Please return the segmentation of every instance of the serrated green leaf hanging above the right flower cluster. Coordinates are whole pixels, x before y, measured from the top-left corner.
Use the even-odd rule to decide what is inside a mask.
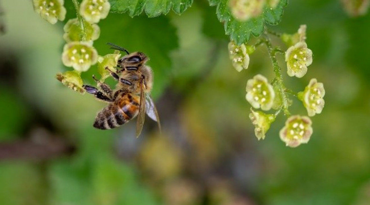
[[[287,0],[280,0],[274,9],[266,6],[262,15],[247,21],[238,21],[232,16],[228,0],[209,0],[209,5],[217,6],[216,14],[218,20],[224,24],[225,33],[230,35],[232,41],[240,45],[248,42],[251,35],[255,37],[261,35],[265,24],[278,24],[287,5]]]

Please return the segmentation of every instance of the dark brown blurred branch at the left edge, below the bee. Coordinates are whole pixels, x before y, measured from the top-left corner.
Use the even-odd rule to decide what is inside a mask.
[[[74,146],[66,139],[52,135],[46,129],[37,128],[30,138],[0,143],[0,160],[50,160],[73,153]]]

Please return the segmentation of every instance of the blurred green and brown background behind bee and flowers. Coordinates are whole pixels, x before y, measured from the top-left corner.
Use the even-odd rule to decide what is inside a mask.
[[[163,126],[147,119],[140,138],[135,121],[119,129],[92,127],[105,106],[55,79],[64,72],[63,25],[51,25],[31,1],[1,1],[1,205],[331,205],[370,204],[370,14],[350,18],[339,0],[289,1],[282,22],[294,33],[307,24],[313,63],[302,79],[324,83],[325,108],[312,118],[313,135],[292,149],[279,139],[285,117],[258,141],[245,100],[246,81],[272,79],[266,48],[238,73],[216,8],[196,1],[182,15],[130,18],[110,14],[94,42],[142,51],[154,69],[153,97]],[[279,44],[278,41],[275,44]],[[285,47],[284,47],[285,49]],[[84,73],[92,84],[96,66]],[[108,81],[114,83],[113,81]],[[295,114],[306,110],[296,99]]]

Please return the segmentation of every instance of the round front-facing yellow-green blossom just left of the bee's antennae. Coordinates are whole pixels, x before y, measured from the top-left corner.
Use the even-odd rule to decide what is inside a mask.
[[[64,45],[62,61],[67,67],[84,72],[97,62],[98,53],[91,42],[70,42]]]

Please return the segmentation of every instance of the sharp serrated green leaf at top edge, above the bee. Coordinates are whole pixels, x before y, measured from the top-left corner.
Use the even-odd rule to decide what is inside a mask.
[[[156,17],[168,14],[171,8],[176,14],[181,14],[191,6],[193,0],[110,0],[110,3],[112,12],[128,12],[134,17],[145,10],[148,17]]]

